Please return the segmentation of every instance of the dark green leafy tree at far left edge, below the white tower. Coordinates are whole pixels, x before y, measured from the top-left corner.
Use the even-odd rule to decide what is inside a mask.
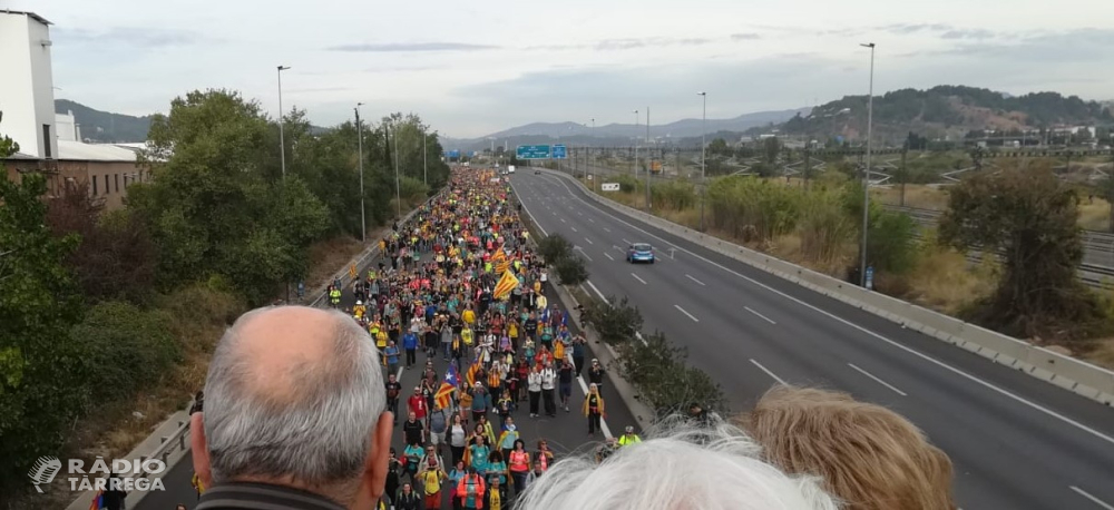
[[[10,155],[14,144],[0,138],[0,150]],[[85,373],[68,340],[81,301],[63,264],[78,239],[50,232],[46,192],[40,174],[0,178],[0,493],[57,450],[84,403]]]

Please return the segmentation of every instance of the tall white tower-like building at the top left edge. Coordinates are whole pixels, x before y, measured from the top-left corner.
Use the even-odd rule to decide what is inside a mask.
[[[21,154],[55,159],[53,73],[50,21],[32,12],[0,10],[0,133],[19,144]]]

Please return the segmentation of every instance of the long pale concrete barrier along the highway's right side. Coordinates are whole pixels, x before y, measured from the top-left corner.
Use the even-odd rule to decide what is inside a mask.
[[[820,294],[842,301],[858,308],[885,317],[911,330],[948,342],[969,352],[1028,373],[1087,399],[1106,405],[1114,404],[1114,372],[1085,361],[1065,356],[1027,342],[966,323],[895,297],[867,291],[858,285],[817,273],[761,252],[756,252],[719,237],[703,234],[652,214],[627,207],[602,197],[579,180],[565,174],[544,170],[578,186],[592,200],[615,212],[683,239],[698,244],[715,253],[789,279]]]

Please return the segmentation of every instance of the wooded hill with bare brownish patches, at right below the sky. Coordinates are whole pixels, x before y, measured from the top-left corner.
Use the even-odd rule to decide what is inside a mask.
[[[867,96],[846,96],[817,107],[809,116],[789,119],[780,129],[817,139],[837,136],[862,139],[867,131]],[[978,129],[1039,130],[1111,122],[1114,117],[1108,106],[1057,92],[1010,96],[974,87],[938,86],[874,97],[874,135],[888,144],[900,144],[909,131],[929,139],[958,139]]]

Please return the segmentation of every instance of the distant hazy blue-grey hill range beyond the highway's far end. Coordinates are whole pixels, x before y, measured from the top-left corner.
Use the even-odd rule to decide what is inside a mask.
[[[715,131],[737,131],[742,133],[756,126],[784,122],[793,118],[794,115],[808,115],[811,108],[799,108],[793,110],[759,111],[744,114],[730,119],[707,119],[707,133]],[[700,138],[703,130],[702,119],[682,119],[668,124],[652,124],[649,136],[652,138],[668,139],[673,143],[682,138]],[[561,141],[575,145],[593,146],[628,146],[631,138],[646,137],[646,125],[636,126],[634,124],[608,124],[596,126],[594,129],[577,122],[531,122],[524,126],[492,133],[480,138],[446,139],[446,148],[459,148],[462,150],[482,150],[491,148],[491,140],[495,145],[501,146],[505,143],[510,147],[529,144],[551,144],[558,138]],[[696,143],[698,145],[698,141]]]

